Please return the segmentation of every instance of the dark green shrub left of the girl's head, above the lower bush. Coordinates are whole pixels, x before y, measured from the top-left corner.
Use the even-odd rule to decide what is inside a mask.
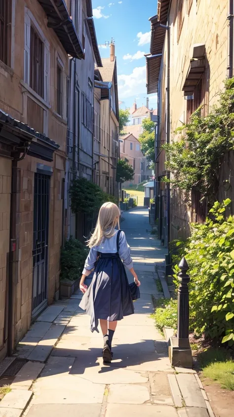
[[[76,178],[69,192],[73,213],[97,213],[101,205],[107,201],[117,204],[113,195],[104,192],[98,185],[86,178]]]

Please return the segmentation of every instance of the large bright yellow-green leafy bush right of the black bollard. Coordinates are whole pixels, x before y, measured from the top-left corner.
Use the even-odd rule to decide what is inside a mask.
[[[190,266],[190,325],[198,334],[234,344],[234,216],[216,202],[204,224],[191,225],[191,237],[179,254]],[[180,247],[177,242],[178,248]],[[178,265],[174,268],[178,285]]]

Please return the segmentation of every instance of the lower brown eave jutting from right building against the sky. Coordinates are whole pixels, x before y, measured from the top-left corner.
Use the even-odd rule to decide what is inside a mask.
[[[162,54],[146,56],[147,94],[157,93]]]

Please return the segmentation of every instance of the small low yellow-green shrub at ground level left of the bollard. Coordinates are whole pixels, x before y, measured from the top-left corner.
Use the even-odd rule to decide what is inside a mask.
[[[161,298],[157,300],[154,313],[156,326],[160,331],[163,327],[177,328],[177,300]]]

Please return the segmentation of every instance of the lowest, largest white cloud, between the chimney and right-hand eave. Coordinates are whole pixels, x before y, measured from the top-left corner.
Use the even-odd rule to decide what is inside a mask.
[[[129,75],[118,76],[118,94],[120,100],[136,94],[146,93],[146,66],[136,67]]]

